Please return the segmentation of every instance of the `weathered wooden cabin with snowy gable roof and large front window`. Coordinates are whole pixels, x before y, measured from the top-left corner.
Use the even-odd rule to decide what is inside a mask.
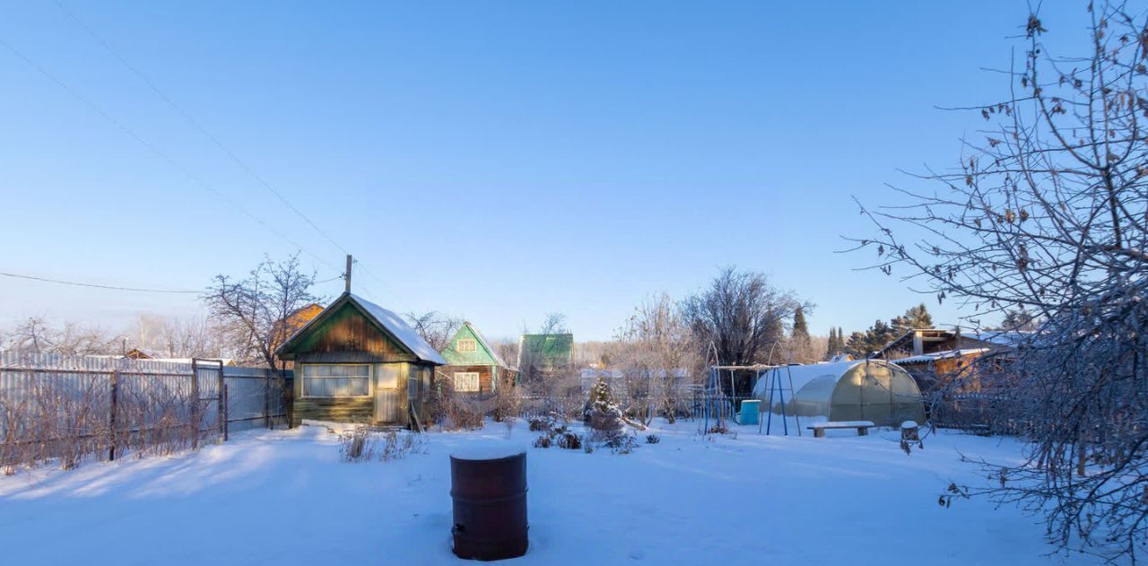
[[[304,419],[401,425],[429,420],[447,363],[398,315],[343,293],[277,350],[295,364],[292,426]]]

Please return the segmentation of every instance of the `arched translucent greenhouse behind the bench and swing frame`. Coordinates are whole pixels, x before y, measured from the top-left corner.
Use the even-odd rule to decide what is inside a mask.
[[[761,400],[763,410],[775,414],[782,413],[783,395],[785,414],[791,417],[871,420],[878,426],[899,426],[906,420],[924,422],[925,419],[916,381],[905,370],[883,359],[775,367],[762,373],[753,388],[753,396]]]

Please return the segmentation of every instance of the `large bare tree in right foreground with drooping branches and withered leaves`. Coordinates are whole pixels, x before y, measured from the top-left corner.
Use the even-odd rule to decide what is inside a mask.
[[[974,321],[1017,309],[1039,320],[1004,371],[970,373],[998,400],[994,425],[1030,442],[978,493],[1044,513],[1058,548],[1135,561],[1148,535],[1148,17],[1124,2],[1087,14],[1088,51],[1070,57],[1027,17],[1010,94],[972,108],[988,126],[959,168],[863,209],[877,230],[858,245]]]

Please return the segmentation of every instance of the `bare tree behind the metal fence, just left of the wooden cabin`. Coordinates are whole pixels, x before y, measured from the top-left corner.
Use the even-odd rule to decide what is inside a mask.
[[[216,276],[203,302],[226,329],[240,359],[276,369],[274,350],[293,332],[290,317],[317,300],[312,285],[315,273],[301,270],[298,254],[280,262],[267,257],[246,279]],[[279,363],[278,370],[284,365]]]

